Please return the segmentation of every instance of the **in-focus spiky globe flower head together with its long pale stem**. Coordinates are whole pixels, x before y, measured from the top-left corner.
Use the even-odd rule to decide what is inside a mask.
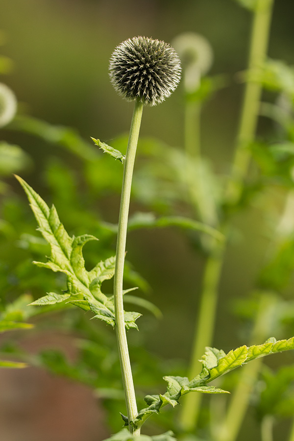
[[[123,266],[132,174],[144,104],[153,106],[168,98],[180,81],[180,61],[174,49],[163,41],[134,37],[119,45],[110,59],[110,79],[123,98],[135,101],[124,159],[123,188],[119,216],[114,304],[123,388],[129,421],[137,416],[137,405],[128,354],[123,316]],[[134,434],[140,429],[133,428]]]

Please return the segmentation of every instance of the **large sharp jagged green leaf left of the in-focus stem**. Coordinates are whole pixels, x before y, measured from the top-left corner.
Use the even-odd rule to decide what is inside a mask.
[[[34,263],[54,272],[63,272],[67,276],[65,294],[49,293],[33,304],[50,305],[66,300],[85,311],[91,310],[95,314],[95,319],[104,320],[115,326],[113,296],[107,297],[100,289],[103,280],[110,279],[114,275],[115,257],[99,262],[93,270],[87,271],[82,248],[88,241],[97,239],[88,234],[70,237],[60,222],[55,207],[49,209],[44,200],[22,178],[17,176],[17,179],[29,199],[39,223],[39,230],[51,247],[48,262]],[[136,312],[125,312],[126,329],[138,329],[135,320],[140,316],[141,314]]]

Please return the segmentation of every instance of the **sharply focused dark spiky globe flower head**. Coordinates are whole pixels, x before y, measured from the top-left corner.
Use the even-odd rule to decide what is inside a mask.
[[[134,37],[121,43],[109,64],[115,90],[128,101],[154,106],[168,98],[181,78],[180,59],[164,41]]]

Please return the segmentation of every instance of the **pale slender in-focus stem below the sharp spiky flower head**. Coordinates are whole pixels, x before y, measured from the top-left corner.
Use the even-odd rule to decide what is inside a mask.
[[[116,334],[119,348],[119,357],[123,378],[123,390],[125,395],[125,403],[127,409],[127,417],[129,421],[136,418],[137,403],[134,382],[131,371],[131,364],[128,352],[128,345],[125,332],[124,314],[123,314],[123,267],[124,267],[124,255],[126,244],[126,231],[128,212],[131,195],[132,176],[134,170],[134,162],[136,156],[136,149],[139,138],[140,124],[142,118],[143,103],[136,101],[127,151],[124,160],[123,168],[123,188],[121,196],[120,216],[119,216],[119,229],[116,249],[116,263],[115,263],[115,275],[114,275],[114,306],[115,306],[115,319],[116,319]],[[134,429],[129,425],[129,430],[134,435],[140,435],[140,429]]]

